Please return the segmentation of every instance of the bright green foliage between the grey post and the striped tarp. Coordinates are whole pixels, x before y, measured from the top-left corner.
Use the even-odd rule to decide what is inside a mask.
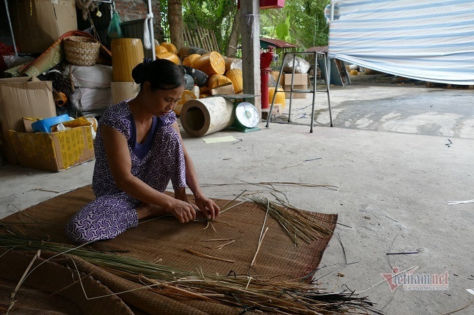
[[[304,49],[326,46],[329,29],[323,10],[329,3],[329,0],[286,0],[282,9],[261,10],[261,35],[293,42]]]

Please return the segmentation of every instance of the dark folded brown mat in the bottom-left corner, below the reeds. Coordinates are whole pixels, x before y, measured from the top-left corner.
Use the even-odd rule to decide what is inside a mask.
[[[34,253],[0,248],[0,255],[0,314],[3,314],[2,310],[8,309],[10,295],[31,263]],[[42,252],[34,261],[29,270],[36,270],[20,286],[9,314],[133,314],[130,307],[121,298],[112,295],[113,292],[107,286],[90,274],[86,277],[83,273],[82,285],[89,296],[105,296],[87,300],[82,286],[76,282],[77,273],[72,272],[75,266],[71,259],[45,261],[47,256],[47,253]]]

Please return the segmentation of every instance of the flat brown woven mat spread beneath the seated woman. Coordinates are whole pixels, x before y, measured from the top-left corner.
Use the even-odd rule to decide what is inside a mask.
[[[47,235],[52,241],[70,243],[63,231],[64,225],[73,213],[93,199],[91,186],[85,186],[0,221],[15,223],[17,229],[32,237],[36,234],[44,239]],[[229,200],[215,200],[215,202],[222,209]],[[331,230],[335,229],[336,214],[307,211],[305,213],[313,218],[319,218],[321,225]],[[260,277],[290,280],[305,277],[316,270],[331,236],[323,235],[312,243],[300,241],[296,247],[284,229],[272,218],[266,221],[268,232],[263,239],[254,267],[251,270],[248,268],[257,250],[264,217],[265,212],[257,205],[245,202],[222,213],[217,222],[213,223],[213,227],[209,225],[206,228],[205,223],[183,225],[172,217],[156,218],[139,223],[138,227],[129,229],[116,239],[96,242],[93,246],[99,250],[117,251],[117,255],[158,261],[158,264],[183,270],[196,271],[197,268],[199,270],[202,268],[204,274],[233,275],[250,272]],[[28,226],[28,229],[24,229],[25,226]],[[204,241],[206,239],[236,239],[236,241],[225,245],[222,249],[216,249],[218,245],[227,241]],[[187,252],[186,248],[235,262],[197,257]]]

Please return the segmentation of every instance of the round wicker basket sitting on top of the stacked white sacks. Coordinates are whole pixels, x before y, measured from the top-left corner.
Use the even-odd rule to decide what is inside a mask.
[[[69,36],[63,39],[66,60],[72,65],[95,65],[100,43],[93,38]]]

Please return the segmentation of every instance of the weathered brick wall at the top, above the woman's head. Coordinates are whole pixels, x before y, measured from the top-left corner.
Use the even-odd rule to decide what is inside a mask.
[[[145,0],[116,0],[115,8],[119,13],[122,22],[132,21],[134,19],[144,19],[148,13],[148,2]],[[151,8],[153,10],[153,31],[155,39],[162,42],[160,1],[151,0]]]

